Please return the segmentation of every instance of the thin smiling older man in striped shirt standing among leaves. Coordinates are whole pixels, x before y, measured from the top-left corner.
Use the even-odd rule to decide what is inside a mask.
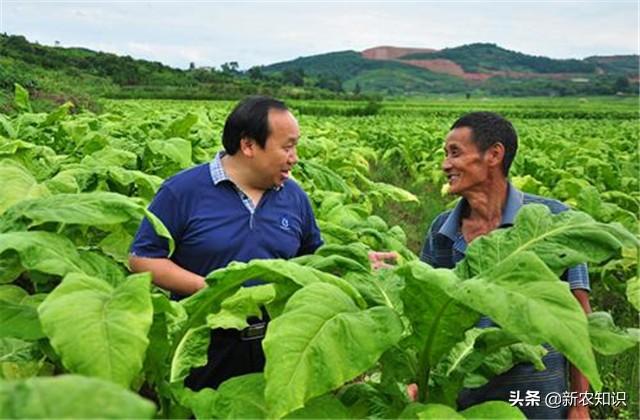
[[[490,112],[467,114],[451,127],[445,142],[442,163],[449,180],[451,194],[462,199],[452,211],[440,214],[431,224],[421,259],[433,267],[453,268],[464,258],[467,244],[494,229],[512,226],[520,208],[529,203],[546,205],[552,213],[567,210],[559,201],[524,194],[507,180],[509,168],[517,151],[517,134],[509,121]],[[569,286],[585,312],[590,312],[589,277],[585,264],[568,269],[563,280]],[[483,317],[479,327],[493,325]],[[567,361],[559,352],[547,346],[544,371],[531,364],[519,364],[476,389],[467,389],[458,398],[460,410],[489,400],[508,400],[512,392],[526,395],[538,391],[568,391]],[[571,391],[586,392],[588,383],[575,367],[570,368]],[[529,418],[589,418],[588,407],[551,408],[520,407]]]

